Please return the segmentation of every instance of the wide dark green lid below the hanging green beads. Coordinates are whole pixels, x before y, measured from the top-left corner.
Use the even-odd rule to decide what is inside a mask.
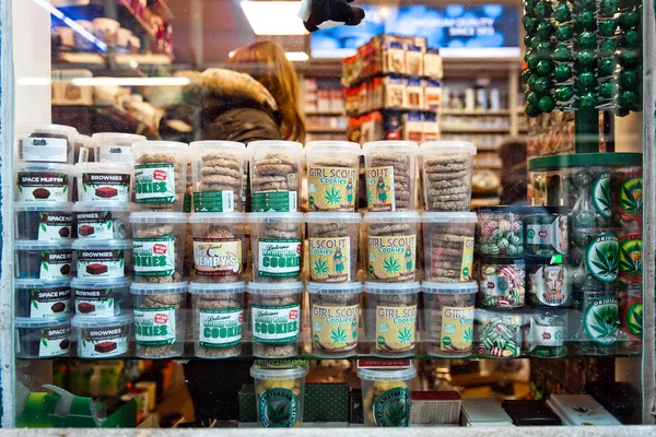
[[[570,167],[626,167],[642,166],[642,153],[575,153],[532,158],[529,172],[560,170]]]

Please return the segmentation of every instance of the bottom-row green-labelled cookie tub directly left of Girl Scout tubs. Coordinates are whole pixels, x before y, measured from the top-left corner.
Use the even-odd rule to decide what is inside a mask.
[[[298,354],[303,283],[262,284],[249,282],[253,355],[288,358]]]

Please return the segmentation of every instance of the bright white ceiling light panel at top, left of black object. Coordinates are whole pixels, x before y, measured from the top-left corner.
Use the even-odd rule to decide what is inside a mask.
[[[242,1],[250,27],[256,35],[307,35],[298,17],[300,1]]]

